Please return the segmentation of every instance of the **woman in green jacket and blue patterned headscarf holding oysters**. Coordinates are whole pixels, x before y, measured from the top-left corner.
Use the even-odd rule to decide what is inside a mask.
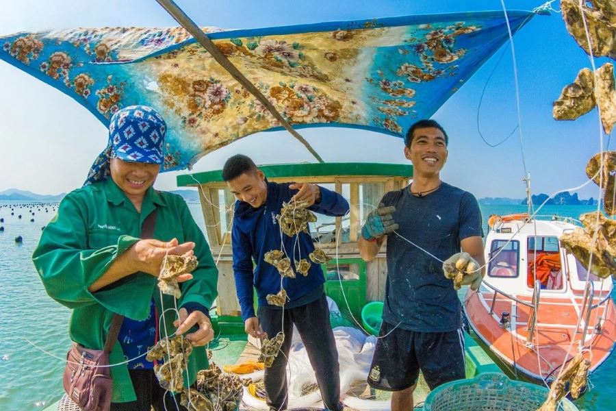
[[[152,108],[133,105],[116,112],[109,145],[86,184],[64,197],[33,256],[49,296],[73,310],[71,340],[103,349],[113,314],[125,316],[110,363],[129,362],[111,367],[112,411],[185,410],[179,399],[165,395],[143,354],[159,338],[188,332],[194,349],[183,377],[189,386],[196,371],[207,368],[203,346],[214,336],[209,308],[218,271],[209,246],[185,201],[152,187],[163,162],[165,131]],[[140,239],[153,210],[155,240]],[[176,307],[173,297],[156,286],[166,253],[194,253],[198,260],[192,275],[178,278],[179,312],[169,310]]]

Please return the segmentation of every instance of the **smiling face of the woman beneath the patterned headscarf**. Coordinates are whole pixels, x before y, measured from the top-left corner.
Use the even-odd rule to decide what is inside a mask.
[[[136,201],[141,204],[145,192],[156,180],[160,165],[126,162],[119,158],[112,158],[110,161],[111,176],[116,185],[133,204],[136,204]]]

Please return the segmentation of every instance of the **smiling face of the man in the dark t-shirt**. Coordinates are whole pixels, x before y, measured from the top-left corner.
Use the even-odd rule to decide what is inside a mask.
[[[436,127],[415,129],[405,157],[413,163],[415,177],[438,177],[447,160],[445,135]]]

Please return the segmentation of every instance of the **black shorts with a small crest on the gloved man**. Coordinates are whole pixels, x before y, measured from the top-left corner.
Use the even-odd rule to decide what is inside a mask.
[[[394,328],[395,325],[383,321],[378,333],[368,373],[368,384],[372,388],[405,390],[417,383],[420,370],[431,390],[466,377],[462,329],[415,332]]]

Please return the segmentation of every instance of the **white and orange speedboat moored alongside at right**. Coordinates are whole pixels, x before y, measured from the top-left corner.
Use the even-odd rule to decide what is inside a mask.
[[[578,352],[597,369],[616,340],[612,277],[587,273],[560,247],[576,226],[493,216],[485,244],[487,273],[478,292],[468,290],[463,308],[483,342],[517,373],[549,381]]]

